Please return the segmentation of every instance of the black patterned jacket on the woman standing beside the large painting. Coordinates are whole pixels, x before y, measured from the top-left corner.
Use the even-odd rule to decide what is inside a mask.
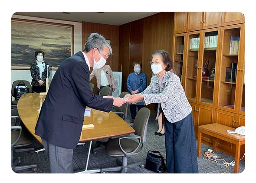
[[[48,65],[48,64],[46,64],[46,62],[44,62],[44,61],[43,61],[43,63],[45,63],[45,69],[42,72],[42,78],[39,77],[39,67],[36,66],[37,65],[36,61],[32,62],[30,65],[30,74],[32,77],[31,85],[33,85],[33,86],[39,86],[39,83],[38,83],[39,80],[43,81],[42,86],[46,86],[46,77],[47,77],[46,70],[48,70],[48,78],[50,77],[49,67],[48,67],[48,69],[46,69],[46,65]]]

